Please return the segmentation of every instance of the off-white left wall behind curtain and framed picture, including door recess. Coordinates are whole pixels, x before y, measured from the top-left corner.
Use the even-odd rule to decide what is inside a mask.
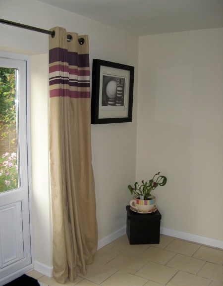
[[[55,26],[89,35],[92,59],[135,66],[133,122],[92,126],[100,245],[124,231],[127,185],[136,171],[138,37],[35,0],[1,0],[0,18],[42,29]],[[0,50],[31,54],[31,121],[35,260],[52,267],[48,162],[48,35],[0,24]],[[37,64],[37,65],[36,65]],[[43,132],[41,132],[43,129]]]

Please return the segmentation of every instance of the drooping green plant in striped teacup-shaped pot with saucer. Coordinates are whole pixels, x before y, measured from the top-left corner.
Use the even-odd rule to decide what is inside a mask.
[[[157,178],[155,179],[155,177]],[[135,183],[134,187],[128,185],[128,189],[131,194],[134,193],[134,199],[129,201],[130,207],[142,213],[151,212],[155,207],[156,197],[151,194],[152,190],[155,190],[158,186],[165,186],[167,183],[167,178],[165,176],[161,176],[160,172],[155,174],[153,179],[144,183],[142,181],[142,185],[139,185],[138,182]]]

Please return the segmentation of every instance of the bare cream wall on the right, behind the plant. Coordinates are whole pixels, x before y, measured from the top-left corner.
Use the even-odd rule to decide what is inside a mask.
[[[161,225],[223,245],[223,29],[139,38],[137,180]]]

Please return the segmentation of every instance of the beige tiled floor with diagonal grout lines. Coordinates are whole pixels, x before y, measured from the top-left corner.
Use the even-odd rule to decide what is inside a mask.
[[[41,286],[61,286],[35,270]],[[130,245],[127,235],[99,249],[87,275],[66,286],[223,286],[223,249],[162,236],[160,244]]]

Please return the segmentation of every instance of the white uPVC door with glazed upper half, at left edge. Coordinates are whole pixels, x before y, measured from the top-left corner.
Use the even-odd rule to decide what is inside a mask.
[[[2,166],[6,166],[13,156],[17,156],[17,175],[13,174],[10,179],[8,177],[8,180],[3,180],[10,187],[12,186],[10,180],[17,176],[17,186],[13,185],[10,190],[0,191],[0,285],[2,285],[6,280],[11,280],[11,277],[14,278],[22,270],[27,269],[32,259],[27,151],[27,61],[0,57],[0,68],[15,70],[16,132],[14,136],[17,148],[17,151],[11,152],[9,148],[5,154],[0,154],[1,164],[3,164],[0,176],[10,175],[10,166],[8,171],[2,170]],[[3,163],[2,155],[5,159]]]

